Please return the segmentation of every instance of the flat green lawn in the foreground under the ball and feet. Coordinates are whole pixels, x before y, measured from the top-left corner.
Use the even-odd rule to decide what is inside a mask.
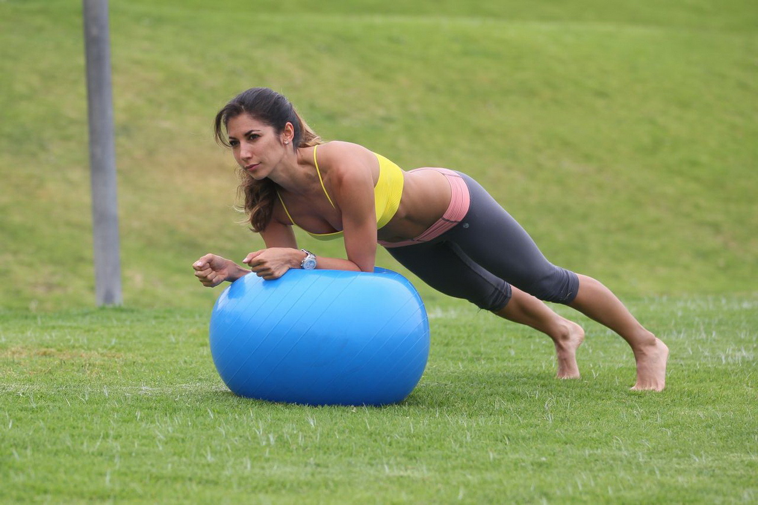
[[[550,341],[457,303],[406,402],[245,400],[213,369],[207,314],[2,317],[2,503],[755,503],[758,298],[647,298],[664,394],[584,321],[583,378]]]

